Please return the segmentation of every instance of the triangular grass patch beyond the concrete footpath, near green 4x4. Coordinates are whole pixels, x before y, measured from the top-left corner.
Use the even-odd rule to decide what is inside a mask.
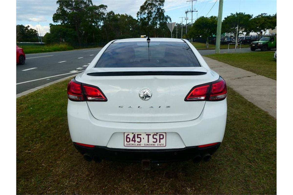
[[[273,58],[274,52],[253,51],[238,54],[209,54],[205,56],[277,80],[277,60]]]

